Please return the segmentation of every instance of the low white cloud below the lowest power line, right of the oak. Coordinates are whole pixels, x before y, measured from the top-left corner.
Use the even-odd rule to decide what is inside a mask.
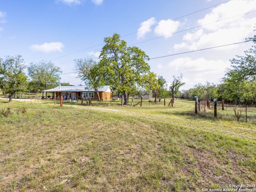
[[[230,66],[229,61],[206,60],[204,58],[191,59],[188,57],[175,59],[169,67],[175,74],[183,74],[185,89],[206,81],[218,83]]]

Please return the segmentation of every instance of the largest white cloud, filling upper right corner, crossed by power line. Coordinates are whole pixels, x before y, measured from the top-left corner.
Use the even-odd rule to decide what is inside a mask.
[[[255,13],[232,19],[227,18],[250,12],[255,9],[255,7],[256,1],[251,0],[229,1],[215,7],[210,13],[207,13],[204,18],[197,20],[198,25],[205,26],[194,31],[194,33],[185,34],[183,36],[183,42],[173,46],[174,50],[195,50],[244,41],[246,37],[252,36],[253,34],[256,17],[252,16],[255,15]],[[215,22],[219,20],[223,21]],[[207,23],[211,24],[206,25]],[[227,50],[236,47],[237,46],[227,46],[220,49]]]

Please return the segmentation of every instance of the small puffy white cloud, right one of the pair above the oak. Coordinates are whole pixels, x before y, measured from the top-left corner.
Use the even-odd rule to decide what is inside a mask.
[[[159,36],[165,36],[165,38],[169,38],[172,36],[172,33],[177,31],[179,26],[179,21],[173,21],[171,19],[161,20],[158,22],[158,25],[154,31]]]

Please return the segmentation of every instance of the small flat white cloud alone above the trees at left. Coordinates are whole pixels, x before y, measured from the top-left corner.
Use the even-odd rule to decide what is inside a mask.
[[[50,52],[62,52],[64,45],[60,42],[51,42],[51,43],[43,43],[41,45],[35,44],[31,45],[30,49],[34,51],[42,51],[45,53]]]

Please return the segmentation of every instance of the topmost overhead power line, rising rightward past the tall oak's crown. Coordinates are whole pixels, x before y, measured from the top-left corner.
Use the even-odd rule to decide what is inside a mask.
[[[229,0],[229,1],[233,1],[233,0]],[[172,19],[172,20],[178,20],[178,19],[187,17],[188,15],[195,14],[195,13],[198,13],[198,12],[201,12],[201,11],[204,11],[204,10],[207,10],[207,9],[211,9],[212,7],[221,5],[221,4],[223,4],[223,3],[227,3],[227,2],[229,2],[229,1],[225,1],[225,2],[222,2],[222,3],[216,4],[216,5],[213,5],[213,6],[209,6],[209,7],[206,7],[206,8],[204,8],[204,9],[202,9],[202,10],[198,10],[198,11],[195,11],[195,12],[192,12],[192,13],[188,13],[188,14],[186,14],[186,15],[182,15],[181,17],[178,17],[178,18],[175,18],[175,19]],[[150,28],[153,28],[153,27],[156,27],[156,26],[158,26],[158,25],[151,26],[151,27],[149,27],[149,28],[145,28],[145,29],[142,29],[142,30],[150,29]],[[142,31],[142,30],[140,30],[140,31]],[[121,36],[121,38],[130,36],[130,35],[133,35],[133,34],[136,34],[136,33],[138,33],[138,32],[139,32],[139,31],[135,31],[135,32],[133,32],[133,33],[130,33],[130,34]],[[93,47],[97,47],[97,46],[100,46],[100,45],[102,45],[102,44],[104,44],[104,43],[100,43],[100,44],[97,44],[97,45],[93,45],[93,46],[90,46],[90,47],[86,47],[85,49],[82,49],[82,50],[78,50],[78,51],[75,51],[75,52],[72,52],[72,53],[69,53],[69,54],[66,54],[66,55],[62,55],[62,56],[60,56],[60,57],[58,57],[58,58],[52,59],[51,61],[57,60],[57,59],[61,59],[61,58],[64,58],[64,57],[67,57],[67,56],[69,56],[69,55],[71,55],[71,54],[75,54],[75,53],[79,53],[79,52],[82,52],[82,51],[85,51],[85,50],[89,50],[89,49],[91,49],[91,48],[93,48]]]

